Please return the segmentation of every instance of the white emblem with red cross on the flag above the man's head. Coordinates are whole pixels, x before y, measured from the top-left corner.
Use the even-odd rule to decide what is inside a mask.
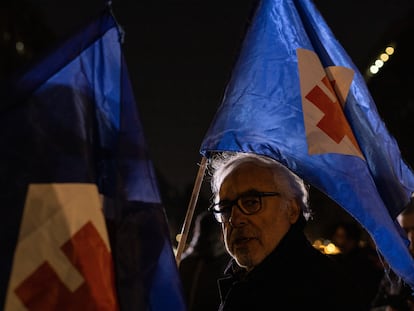
[[[296,52],[309,154],[340,153],[364,158],[332,88],[335,85],[340,97],[346,98],[350,77],[352,82],[349,69],[330,67],[328,77],[313,51]]]

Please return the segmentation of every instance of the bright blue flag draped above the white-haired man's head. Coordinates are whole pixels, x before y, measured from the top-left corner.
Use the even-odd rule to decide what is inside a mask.
[[[414,175],[367,86],[309,0],[262,0],[200,152],[252,152],[285,164],[371,235],[411,287],[395,221]]]

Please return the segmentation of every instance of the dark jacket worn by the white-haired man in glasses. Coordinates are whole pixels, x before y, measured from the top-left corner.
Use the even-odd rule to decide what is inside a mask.
[[[338,264],[293,226],[250,273],[233,261],[219,279],[220,310],[364,310]]]

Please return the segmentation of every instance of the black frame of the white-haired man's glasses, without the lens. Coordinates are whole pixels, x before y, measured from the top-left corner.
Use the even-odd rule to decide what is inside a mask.
[[[237,198],[235,198],[234,200],[228,201],[228,200],[223,200],[217,203],[213,203],[210,205],[210,207],[208,208],[208,211],[212,212],[214,214],[214,217],[216,218],[216,220],[219,223],[226,223],[229,222],[230,220],[230,214],[231,211],[233,210],[233,206],[237,206],[237,208],[245,215],[254,215],[256,213],[258,213],[261,209],[262,209],[262,198],[264,197],[274,197],[274,196],[280,196],[281,193],[280,192],[259,192],[259,191],[254,191],[254,192],[247,192],[247,193],[243,193],[240,196],[238,196]],[[257,197],[259,199],[259,207],[257,210],[254,210],[253,212],[250,212],[248,210],[245,210],[242,206],[242,199],[247,198],[247,197]],[[217,210],[215,209],[216,206],[219,206],[220,204],[222,205],[226,205],[226,207]],[[226,216],[227,215],[227,216]]]

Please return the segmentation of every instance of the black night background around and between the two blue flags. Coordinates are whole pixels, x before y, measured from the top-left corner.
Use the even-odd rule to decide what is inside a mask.
[[[365,74],[386,44],[396,53],[367,84],[407,163],[414,125],[414,1],[315,0],[317,8]],[[124,54],[172,233],[181,230],[201,160],[199,147],[220,104],[255,0],[113,1],[125,31]],[[14,0],[0,11],[0,78],[35,60],[90,21],[105,1]],[[16,42],[24,50],[16,50]],[[344,212],[312,189],[312,237]],[[203,183],[196,213],[207,207]]]

